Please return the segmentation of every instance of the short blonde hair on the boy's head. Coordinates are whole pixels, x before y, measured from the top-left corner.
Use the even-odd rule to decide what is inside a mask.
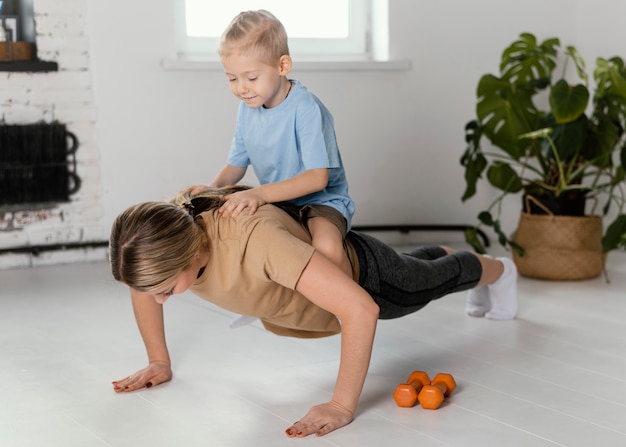
[[[268,65],[289,55],[285,27],[271,12],[264,9],[239,13],[226,28],[220,40],[220,57],[247,54]]]

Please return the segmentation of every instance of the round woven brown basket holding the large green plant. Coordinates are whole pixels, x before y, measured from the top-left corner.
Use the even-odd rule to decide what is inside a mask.
[[[556,216],[521,213],[513,240],[518,272],[530,278],[577,280],[594,278],[604,269],[600,216]]]

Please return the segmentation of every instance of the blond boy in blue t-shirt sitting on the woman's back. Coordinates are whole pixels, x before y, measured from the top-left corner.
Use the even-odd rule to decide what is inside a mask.
[[[265,10],[237,15],[222,35],[219,55],[232,93],[241,100],[227,165],[211,187],[238,183],[249,165],[261,186],[225,196],[235,217],[265,203],[300,208],[313,246],[346,274],[343,249],[354,214],[337,147],[333,117],[304,85],[287,78],[287,33]]]

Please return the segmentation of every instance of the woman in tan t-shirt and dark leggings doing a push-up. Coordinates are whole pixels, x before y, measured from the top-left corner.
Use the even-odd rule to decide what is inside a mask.
[[[130,287],[149,364],[113,382],[115,391],[172,378],[162,304],[188,289],[225,309],[258,317],[279,335],[341,333],[332,400],[288,427],[289,437],[322,436],[352,420],[379,318],[407,315],[433,299],[473,287],[470,314],[515,315],[517,274],[509,259],[442,247],[400,255],[370,236],[350,232],[346,252],[353,280],[313,249],[306,227],[286,206],[264,205],[253,215],[223,217],[222,198],[242,188],[207,190],[193,200],[179,195],[169,203],[142,203],[116,218],[111,270]]]

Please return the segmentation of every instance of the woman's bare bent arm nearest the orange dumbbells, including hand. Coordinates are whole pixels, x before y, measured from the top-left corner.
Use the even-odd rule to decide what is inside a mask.
[[[333,398],[286,430],[290,437],[322,436],[352,420],[369,367],[379,309],[365,290],[319,253],[313,254],[296,290],[341,320],[341,361]]]

